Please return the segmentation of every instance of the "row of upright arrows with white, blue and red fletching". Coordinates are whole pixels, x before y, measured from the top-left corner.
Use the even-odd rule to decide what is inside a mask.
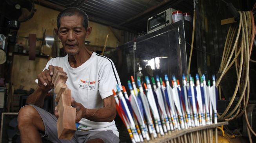
[[[133,76],[128,81],[128,96],[124,86],[123,92],[117,85],[113,89],[116,100],[116,110],[125,124],[133,143],[149,141],[151,138],[171,134],[172,131],[188,129],[202,125],[217,123],[216,100],[218,92],[215,76],[206,84],[205,75],[194,78],[182,76],[183,86],[172,75],[170,84],[167,75],[164,77],[145,77],[142,85],[137,78],[137,86]],[[156,81],[156,82],[155,82]],[[153,88],[151,86],[153,85]],[[143,89],[144,86],[144,89]],[[212,113],[214,116],[212,117]]]

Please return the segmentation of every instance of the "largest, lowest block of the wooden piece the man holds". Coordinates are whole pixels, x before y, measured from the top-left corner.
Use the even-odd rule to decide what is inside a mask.
[[[71,140],[76,132],[76,109],[70,106],[63,106],[62,109],[58,109],[58,113],[58,138]]]

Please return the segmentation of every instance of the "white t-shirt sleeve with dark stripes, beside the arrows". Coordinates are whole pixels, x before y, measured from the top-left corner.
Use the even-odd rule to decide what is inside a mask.
[[[102,99],[113,95],[112,89],[116,92],[116,85],[122,90],[121,82],[114,63],[109,60],[99,71],[98,90]]]

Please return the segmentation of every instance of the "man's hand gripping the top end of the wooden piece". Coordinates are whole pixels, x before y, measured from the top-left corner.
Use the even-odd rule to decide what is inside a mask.
[[[48,69],[49,70],[45,69],[37,75],[38,86],[43,91],[49,91],[53,89],[52,77],[54,72],[54,66],[49,65]]]

